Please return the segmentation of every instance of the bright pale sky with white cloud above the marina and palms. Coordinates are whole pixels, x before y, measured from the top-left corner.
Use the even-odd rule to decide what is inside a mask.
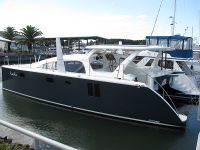
[[[176,1],[175,34],[199,40],[200,0]],[[171,35],[173,7],[174,0],[0,0],[0,31],[31,25],[43,37],[141,40],[151,34]]]

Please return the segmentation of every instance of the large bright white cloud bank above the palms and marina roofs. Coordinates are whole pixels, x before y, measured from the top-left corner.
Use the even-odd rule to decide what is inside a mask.
[[[144,39],[149,28],[144,21],[128,15],[75,11],[61,4],[37,0],[6,0],[0,3],[0,30],[7,26],[18,31],[26,25],[40,29],[45,37],[102,36],[105,38]]]

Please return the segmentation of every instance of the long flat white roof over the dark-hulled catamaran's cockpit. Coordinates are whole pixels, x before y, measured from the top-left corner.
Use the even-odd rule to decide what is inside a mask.
[[[174,48],[164,47],[164,46],[147,46],[147,45],[92,45],[86,46],[87,49],[99,49],[99,50],[124,50],[124,51],[173,51]]]

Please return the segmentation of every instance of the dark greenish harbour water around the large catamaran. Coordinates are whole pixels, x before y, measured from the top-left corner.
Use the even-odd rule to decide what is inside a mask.
[[[0,76],[1,120],[81,150],[195,150],[200,132],[197,111],[195,106],[189,112],[185,130],[119,122],[3,91]]]

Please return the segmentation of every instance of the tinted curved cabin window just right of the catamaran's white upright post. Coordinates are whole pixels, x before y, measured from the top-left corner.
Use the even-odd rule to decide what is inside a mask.
[[[80,61],[65,61],[65,70],[67,72],[85,73],[85,67]]]

